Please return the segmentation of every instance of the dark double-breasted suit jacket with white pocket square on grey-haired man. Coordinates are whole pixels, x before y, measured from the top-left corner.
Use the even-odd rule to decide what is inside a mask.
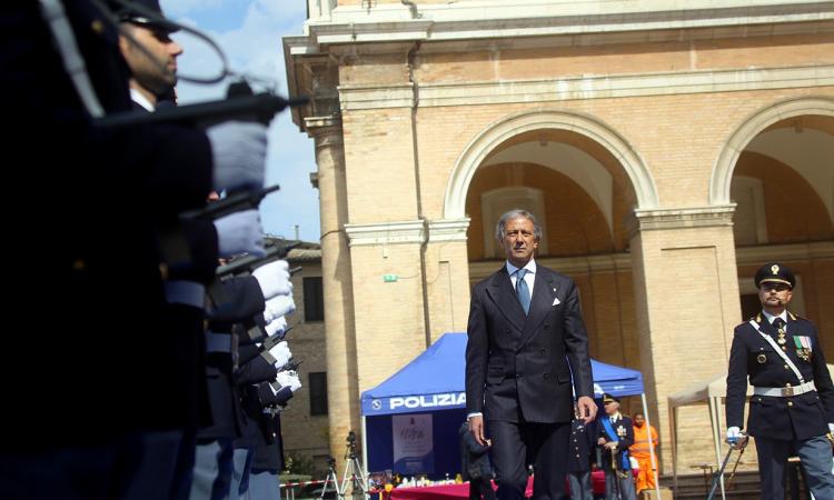
[[[569,422],[576,396],[593,397],[588,338],[576,287],[536,264],[529,316],[506,266],[473,289],[466,344],[466,410],[485,420]]]

